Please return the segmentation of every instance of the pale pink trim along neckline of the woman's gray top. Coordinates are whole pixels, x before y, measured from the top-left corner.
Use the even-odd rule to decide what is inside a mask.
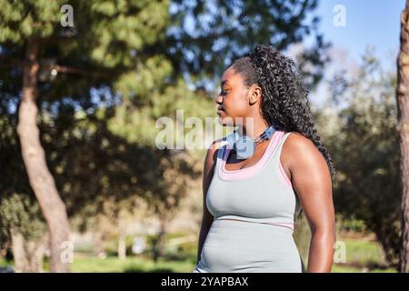
[[[255,174],[258,173],[258,171],[260,171],[265,166],[268,158],[272,155],[272,153],[274,152],[274,149],[280,143],[284,134],[285,134],[284,131],[275,131],[272,139],[270,140],[270,143],[268,144],[267,148],[264,151],[263,156],[253,166],[244,167],[243,169],[239,169],[239,170],[226,170],[225,169],[225,163],[226,163],[228,155],[230,154],[230,149],[226,148],[224,152],[224,156],[222,158],[222,165],[220,166],[220,169],[221,169],[219,173],[220,176],[224,178],[225,180],[240,180],[240,179],[248,178],[250,176],[254,176]],[[283,175],[282,172],[280,173]]]

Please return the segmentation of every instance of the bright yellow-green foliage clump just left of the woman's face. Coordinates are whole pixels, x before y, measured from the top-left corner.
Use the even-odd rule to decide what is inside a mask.
[[[172,118],[174,125],[174,148],[176,145],[176,111],[183,115],[182,122],[189,117],[200,120],[205,130],[205,117],[215,118],[215,103],[207,95],[190,91],[182,80],[174,86],[167,86],[163,93],[153,92],[146,105],[135,105],[125,99],[122,105],[115,108],[115,115],[109,119],[108,127],[115,135],[124,137],[129,143],[155,146],[156,135],[163,130],[156,125],[161,116]],[[195,128],[180,125],[186,134]]]

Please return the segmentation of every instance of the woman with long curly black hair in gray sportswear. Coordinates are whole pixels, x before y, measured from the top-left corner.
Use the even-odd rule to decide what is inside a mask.
[[[248,158],[225,139],[208,149],[194,272],[304,272],[293,238],[301,208],[312,232],[306,271],[330,272],[334,165],[314,129],[294,62],[257,45],[225,70],[221,89],[222,125],[239,126],[254,140],[266,129],[273,134]]]

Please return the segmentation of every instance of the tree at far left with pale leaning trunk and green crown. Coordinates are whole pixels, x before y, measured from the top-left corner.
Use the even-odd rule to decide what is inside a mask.
[[[135,59],[131,55],[131,50],[139,49],[144,43],[154,42],[155,37],[160,36],[158,31],[165,24],[165,17],[157,17],[148,25],[144,25],[147,20],[145,11],[155,8],[155,13],[165,14],[167,7],[166,4],[161,6],[154,3],[142,8],[141,5],[144,4],[140,1],[129,4],[121,2],[116,6],[104,1],[93,3],[73,1],[71,4],[75,6],[78,25],[65,29],[60,22],[62,17],[60,9],[64,4],[63,1],[0,3],[3,7],[0,23],[2,59],[12,65],[23,65],[22,99],[19,105],[17,130],[30,185],[41,206],[50,233],[53,272],[69,270],[68,262],[61,260],[63,243],[69,240],[69,225],[65,204],[46,165],[45,151],[40,143],[37,126],[39,88],[43,96],[49,94],[52,98],[58,98],[62,94],[78,94],[81,91],[80,95],[84,96],[83,90],[89,90],[95,79],[102,82],[103,77],[100,79],[98,77],[106,75],[108,70],[114,72],[115,69],[120,69],[126,72],[126,68],[137,68],[135,62],[129,64],[130,59]],[[70,44],[73,38],[75,42]],[[24,55],[23,59],[19,58],[19,55]],[[139,63],[144,62],[142,58],[137,60]],[[76,66],[67,67],[62,65],[64,63]],[[87,65],[89,70],[85,69]],[[95,72],[90,72],[94,68]],[[41,80],[38,78],[42,69],[45,71],[46,79],[39,85]],[[59,78],[59,85],[50,86],[51,76],[61,73],[82,75],[85,88],[81,82],[76,82],[74,90],[64,89],[69,77]],[[88,75],[90,77],[86,77]],[[47,84],[48,89],[45,89]],[[58,90],[60,92],[56,93]]]

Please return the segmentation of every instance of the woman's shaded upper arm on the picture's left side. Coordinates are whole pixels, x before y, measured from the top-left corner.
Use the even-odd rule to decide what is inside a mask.
[[[205,165],[203,168],[203,181],[202,181],[202,188],[203,188],[203,223],[211,224],[213,221],[213,216],[209,212],[206,206],[206,195],[207,189],[210,186],[210,182],[212,181],[214,175],[214,166],[217,160],[217,150],[221,146],[221,140],[216,140],[213,142],[211,146],[209,146],[206,156],[205,156]]]

